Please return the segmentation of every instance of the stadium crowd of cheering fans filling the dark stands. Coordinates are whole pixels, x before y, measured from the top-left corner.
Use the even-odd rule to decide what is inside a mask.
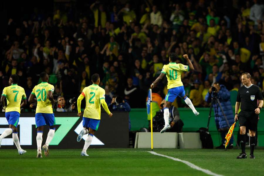
[[[93,1],[77,17],[72,9],[61,7],[53,15],[36,9],[27,19],[9,19],[1,55],[1,91],[10,75],[17,74],[28,98],[45,71],[54,93],[61,92],[69,100],[91,84],[91,75],[99,73],[108,104],[118,94],[131,108],[144,108],[150,84],[168,64],[170,52],[182,64],[186,64],[182,55],[188,54],[194,65],[194,71],[182,75],[182,82],[195,107],[209,106],[204,99],[214,82],[237,92],[243,72],[251,73],[252,83],[264,90],[264,5],[260,1],[157,5],[151,0],[111,5]],[[165,77],[158,89],[164,98]],[[175,102],[176,107],[185,105],[180,98]]]

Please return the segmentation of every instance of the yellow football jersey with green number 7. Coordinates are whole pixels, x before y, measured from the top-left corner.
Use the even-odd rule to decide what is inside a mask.
[[[6,97],[7,102],[5,112],[17,111],[20,113],[21,99],[27,99],[23,87],[12,84],[4,88],[2,95]]]

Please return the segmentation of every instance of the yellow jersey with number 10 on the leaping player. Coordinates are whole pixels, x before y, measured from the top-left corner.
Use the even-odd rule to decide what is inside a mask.
[[[168,80],[168,89],[183,86],[181,75],[182,72],[188,72],[189,66],[183,64],[177,64],[175,62],[170,62],[168,65],[164,65],[162,68],[162,73],[166,74]]]

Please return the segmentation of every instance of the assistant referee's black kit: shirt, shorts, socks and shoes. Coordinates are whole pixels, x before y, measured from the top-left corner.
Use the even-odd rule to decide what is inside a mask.
[[[241,102],[241,111],[238,114],[239,126],[246,126],[251,131],[257,131],[258,114],[255,113],[255,109],[258,108],[258,100],[263,100],[263,96],[257,85],[251,84],[249,87],[242,86],[238,89],[236,101]],[[242,155],[237,158],[241,158],[241,156],[246,158],[246,134],[240,135],[240,144]],[[255,136],[250,137],[250,157],[254,157],[254,148]]]

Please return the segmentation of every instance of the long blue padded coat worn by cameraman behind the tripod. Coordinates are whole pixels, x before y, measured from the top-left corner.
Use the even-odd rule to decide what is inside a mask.
[[[226,115],[226,118],[231,126],[235,122],[234,115],[233,115],[233,109],[232,109],[231,102],[230,102],[230,93],[224,85],[220,85],[220,90],[217,93],[216,97],[219,99],[220,104]],[[205,96],[205,101],[207,101],[207,103],[210,103],[211,98],[212,98],[212,93],[210,94],[208,92]],[[226,119],[224,115],[222,114],[222,111],[218,103],[213,102],[213,107],[214,107],[214,115],[215,115],[214,119],[216,123],[216,128],[219,129],[219,128],[228,127],[226,123]]]

